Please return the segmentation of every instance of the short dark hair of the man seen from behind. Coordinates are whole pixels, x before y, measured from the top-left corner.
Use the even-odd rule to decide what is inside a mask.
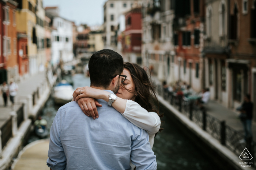
[[[123,57],[113,50],[103,49],[95,52],[89,61],[91,86],[108,88],[111,77],[124,70]]]

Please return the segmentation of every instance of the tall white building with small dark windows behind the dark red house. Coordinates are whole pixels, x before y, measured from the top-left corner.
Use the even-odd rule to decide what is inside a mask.
[[[120,19],[133,5],[141,4],[140,0],[108,0],[104,4],[104,48],[117,50],[117,35],[121,28]],[[124,19],[125,20],[125,19]],[[123,24],[122,24],[123,25]],[[121,26],[122,26],[121,25]],[[124,30],[123,30],[124,31]]]

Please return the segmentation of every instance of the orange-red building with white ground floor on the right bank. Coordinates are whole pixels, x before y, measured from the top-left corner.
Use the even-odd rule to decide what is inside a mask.
[[[176,80],[190,84],[196,91],[203,84],[203,32],[204,0],[176,0],[173,21],[176,59],[174,70]]]

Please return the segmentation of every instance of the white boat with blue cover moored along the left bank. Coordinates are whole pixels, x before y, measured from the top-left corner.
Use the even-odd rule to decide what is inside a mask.
[[[54,87],[54,102],[57,104],[70,102],[73,99],[74,91],[73,87],[67,83],[66,80],[61,80],[61,82]]]

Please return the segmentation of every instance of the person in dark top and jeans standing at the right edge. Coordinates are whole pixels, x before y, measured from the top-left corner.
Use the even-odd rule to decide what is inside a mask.
[[[244,117],[241,118],[242,124],[244,125],[244,133],[245,133],[245,141],[252,139],[252,110],[253,110],[253,103],[251,102],[251,95],[247,94],[244,96],[244,102],[241,106],[241,115]]]

